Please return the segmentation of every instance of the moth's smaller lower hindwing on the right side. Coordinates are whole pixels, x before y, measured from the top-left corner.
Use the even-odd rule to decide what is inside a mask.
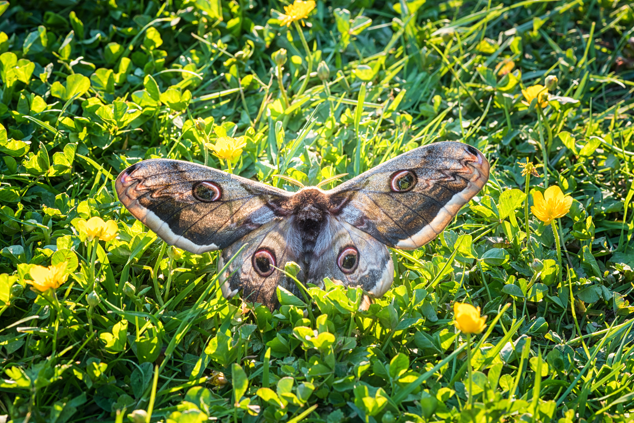
[[[330,218],[315,244],[307,283],[323,287],[325,277],[380,297],[392,285],[394,263],[384,244],[346,221]]]

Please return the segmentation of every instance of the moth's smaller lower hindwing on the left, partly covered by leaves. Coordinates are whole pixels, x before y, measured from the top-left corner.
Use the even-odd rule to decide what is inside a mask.
[[[247,246],[240,251],[244,244]],[[288,219],[270,221],[224,249],[218,271],[238,251],[240,253],[227,270],[219,275],[224,297],[233,297],[242,290],[243,301],[262,303],[270,309],[278,306],[278,285],[301,297],[295,282],[281,271],[288,261],[304,263],[299,233],[292,228]],[[303,269],[297,278],[304,280]]]

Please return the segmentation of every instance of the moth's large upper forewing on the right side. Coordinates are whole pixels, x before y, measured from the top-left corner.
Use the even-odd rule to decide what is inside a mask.
[[[350,225],[389,247],[416,249],[441,233],[488,179],[481,152],[446,141],[394,157],[328,194]]]

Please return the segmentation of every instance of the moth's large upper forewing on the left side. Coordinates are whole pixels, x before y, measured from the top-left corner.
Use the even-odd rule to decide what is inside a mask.
[[[119,200],[167,244],[201,253],[223,249],[275,218],[283,190],[180,160],[143,160],[115,182]]]

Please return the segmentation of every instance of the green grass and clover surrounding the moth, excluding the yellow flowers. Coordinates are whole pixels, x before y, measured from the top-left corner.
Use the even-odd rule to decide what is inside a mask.
[[[0,1],[0,420],[631,421],[631,3],[318,1],[281,27],[285,4]],[[523,104],[549,75],[546,107]],[[287,190],[271,175],[347,179],[442,140],[491,178],[392,251],[368,311],[329,283],[269,311],[226,301],[217,252],[166,249],[113,191],[152,157],[227,169],[205,149],[224,134],[247,143],[235,174]],[[574,202],[551,226],[529,205],[553,185]],[[119,237],[87,242],[93,216]],[[30,289],[58,263],[66,282]],[[471,348],[455,301],[488,316]]]

